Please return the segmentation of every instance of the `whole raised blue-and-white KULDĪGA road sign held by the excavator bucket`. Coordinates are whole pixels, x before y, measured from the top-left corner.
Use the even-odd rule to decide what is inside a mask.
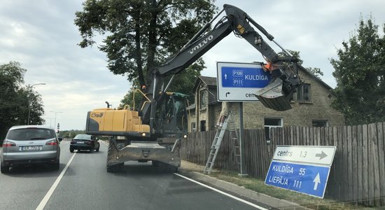
[[[218,101],[257,101],[255,93],[269,85],[261,63],[217,62]]]

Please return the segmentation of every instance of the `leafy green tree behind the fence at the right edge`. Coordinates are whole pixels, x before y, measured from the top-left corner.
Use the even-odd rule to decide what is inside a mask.
[[[385,120],[385,36],[378,28],[372,18],[361,17],[358,29],[337,49],[338,59],[330,60],[337,80],[332,106],[348,125]]]

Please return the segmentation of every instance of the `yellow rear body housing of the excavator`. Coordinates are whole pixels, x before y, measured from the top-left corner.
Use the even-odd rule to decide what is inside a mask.
[[[87,134],[150,137],[150,126],[143,125],[137,111],[94,109],[87,113]]]

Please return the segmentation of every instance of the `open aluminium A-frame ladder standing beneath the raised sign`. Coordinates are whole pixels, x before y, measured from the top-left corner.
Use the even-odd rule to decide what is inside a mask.
[[[233,129],[231,131],[235,132],[235,137],[232,137],[232,139],[233,140],[238,139],[238,133],[237,133],[237,130],[235,129],[235,126],[234,126],[234,120],[232,119],[231,113],[229,113],[229,116],[227,118],[225,118],[225,122],[223,122],[222,127],[218,128],[216,130],[214,141],[213,141],[213,144],[211,145],[211,150],[209,153],[209,158],[207,159],[207,163],[206,163],[206,166],[204,167],[203,174],[210,174],[211,173],[211,169],[214,166],[214,162],[216,160],[216,155],[218,154],[219,148],[221,147],[222,139],[223,139],[223,136],[226,132],[226,128],[228,127],[230,118],[231,118],[230,124],[233,125],[232,126]],[[239,145],[239,144],[237,143],[237,141],[235,141],[235,148],[236,148],[235,156],[236,156],[237,165],[239,165],[240,161],[239,161],[239,158],[237,158],[237,155],[238,155],[238,157],[240,157],[240,155],[239,155],[239,146],[237,146],[237,145]]]

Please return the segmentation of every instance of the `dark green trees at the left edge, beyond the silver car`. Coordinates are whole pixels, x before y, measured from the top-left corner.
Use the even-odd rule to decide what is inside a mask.
[[[30,104],[30,124],[43,124],[41,96],[30,85],[23,87],[27,70],[19,62],[0,65],[0,138],[13,125],[27,125]]]

